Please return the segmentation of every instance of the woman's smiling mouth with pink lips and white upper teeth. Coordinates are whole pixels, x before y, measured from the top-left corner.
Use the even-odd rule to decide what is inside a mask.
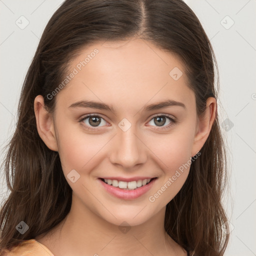
[[[115,197],[126,200],[135,199],[145,194],[152,187],[156,179],[157,177],[123,181],[118,179],[97,178],[105,191]]]

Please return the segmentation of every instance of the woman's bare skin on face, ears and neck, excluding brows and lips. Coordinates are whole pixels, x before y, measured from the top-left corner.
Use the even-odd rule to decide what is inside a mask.
[[[80,178],[72,188],[72,205],[65,219],[47,234],[35,237],[55,256],[66,255],[186,255],[164,230],[166,204],[184,184],[189,168],[154,202],[149,196],[203,146],[215,118],[216,101],[209,97],[204,118],[196,115],[195,96],[183,75],[174,80],[169,72],[183,70],[173,54],[139,38],[125,42],[95,43],[85,47],[70,63],[97,48],[99,52],[55,95],[56,109],[49,114],[43,97],[34,99],[37,130],[51,150],[58,151],[63,173],[75,169]],[[172,99],[185,105],[144,111],[143,107]],[[116,113],[85,107],[68,107],[79,100],[112,104]],[[90,125],[86,114],[99,114],[98,126]],[[169,114],[161,124],[154,115]],[[118,123],[126,118],[126,131]],[[87,124],[95,131],[86,130]],[[157,127],[159,129],[157,130]],[[200,157],[200,156],[198,156]],[[98,185],[104,176],[158,177],[149,191],[132,200],[110,195]],[[118,227],[126,221],[130,229]]]

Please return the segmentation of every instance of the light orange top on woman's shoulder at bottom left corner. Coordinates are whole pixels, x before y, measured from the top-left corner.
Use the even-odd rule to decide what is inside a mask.
[[[6,256],[54,256],[53,253],[35,239],[22,241],[14,246]]]

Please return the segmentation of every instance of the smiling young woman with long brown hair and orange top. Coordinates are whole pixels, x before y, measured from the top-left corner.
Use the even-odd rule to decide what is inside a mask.
[[[0,255],[223,255],[214,63],[181,0],[65,0],[21,91]]]

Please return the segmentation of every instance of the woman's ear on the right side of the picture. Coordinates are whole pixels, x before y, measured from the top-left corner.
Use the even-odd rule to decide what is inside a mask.
[[[202,148],[204,142],[206,141],[210,133],[212,123],[215,120],[216,109],[216,99],[214,97],[208,97],[206,100],[204,115],[198,117],[197,120],[197,129],[192,145],[191,157]]]

